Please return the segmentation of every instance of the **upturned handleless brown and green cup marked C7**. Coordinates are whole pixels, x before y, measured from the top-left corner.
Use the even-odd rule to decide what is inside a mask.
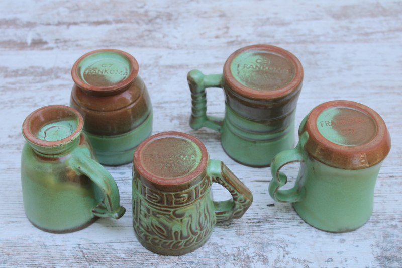
[[[130,163],[152,132],[151,100],[135,58],[120,50],[95,50],[75,62],[71,75],[70,106],[84,118],[99,162]]]

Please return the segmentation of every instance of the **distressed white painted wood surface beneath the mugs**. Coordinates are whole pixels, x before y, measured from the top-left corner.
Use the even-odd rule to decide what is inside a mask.
[[[392,149],[375,187],[374,212],[360,229],[319,231],[267,191],[269,168],[239,165],[220,134],[188,125],[189,70],[220,73],[243,46],[291,51],[305,70],[296,125],[316,105],[365,104],[386,122]],[[70,70],[91,50],[132,54],[151,95],[153,133],[181,131],[202,140],[251,189],[242,219],[218,224],[208,242],[183,256],[161,256],[134,236],[131,164],[106,167],[127,213],[84,230],[50,234],[31,225],[22,202],[21,125],[50,104],[68,105]],[[0,3],[0,266],[19,267],[402,267],[402,4],[399,1],[29,1]],[[208,90],[208,113],[223,116],[222,90]],[[297,141],[297,137],[295,137]],[[286,167],[289,187],[298,165]],[[214,186],[215,197],[228,193]]]

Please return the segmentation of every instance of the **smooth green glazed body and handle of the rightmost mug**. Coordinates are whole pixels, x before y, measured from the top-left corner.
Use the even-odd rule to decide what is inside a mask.
[[[330,112],[339,111],[334,109]],[[324,117],[328,116],[327,113],[323,114]],[[306,120],[307,117],[302,121],[300,130]],[[319,117],[317,121],[320,127],[323,120],[323,117]],[[333,132],[325,132],[325,135],[340,141],[339,136],[334,136]],[[298,215],[320,230],[342,233],[359,228],[373,211],[374,186],[382,161],[356,170],[328,166],[306,152],[308,139],[307,132],[300,133],[294,149],[283,151],[272,160],[270,196],[279,202],[292,202]],[[287,182],[286,175],[279,170],[291,162],[300,162],[297,180],[293,188],[279,190]]]

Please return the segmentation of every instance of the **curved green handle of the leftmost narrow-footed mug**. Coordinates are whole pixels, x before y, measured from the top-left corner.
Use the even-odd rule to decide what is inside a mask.
[[[83,148],[76,148],[71,160],[76,171],[90,178],[102,192],[104,200],[92,209],[93,215],[100,218],[120,219],[126,209],[119,204],[119,189],[112,175],[101,164],[90,158],[90,153],[85,152]]]

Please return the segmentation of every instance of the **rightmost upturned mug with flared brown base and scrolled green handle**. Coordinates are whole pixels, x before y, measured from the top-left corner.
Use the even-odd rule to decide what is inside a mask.
[[[359,103],[332,101],[314,108],[302,121],[299,142],[272,160],[269,194],[293,202],[307,223],[342,233],[362,226],[373,211],[374,185],[391,138],[382,118]],[[279,170],[301,162],[292,189],[279,190]]]

